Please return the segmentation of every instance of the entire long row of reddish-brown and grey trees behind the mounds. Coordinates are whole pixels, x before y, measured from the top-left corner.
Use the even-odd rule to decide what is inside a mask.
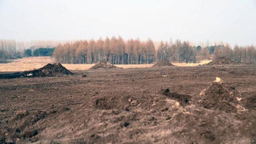
[[[192,46],[188,41],[161,41],[157,46],[151,39],[123,40],[122,37],[78,40],[58,44],[53,57],[64,64],[93,64],[106,60],[112,64],[152,64],[159,60],[169,62],[200,62],[226,56],[237,62],[256,62],[254,46],[215,44],[214,46]]]

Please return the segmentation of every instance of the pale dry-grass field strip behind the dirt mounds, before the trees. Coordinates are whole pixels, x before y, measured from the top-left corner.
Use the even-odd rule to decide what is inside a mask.
[[[203,61],[201,63],[173,63],[176,66],[198,66],[198,64],[205,64],[210,61]],[[7,64],[0,64],[0,72],[18,72],[25,70],[34,70],[41,68],[42,66],[54,63],[54,59],[49,56],[42,57],[31,57],[31,58],[21,58],[18,60],[12,60],[12,62]],[[94,64],[63,64],[68,70],[88,70]],[[121,68],[147,68],[153,66],[153,64],[120,64],[116,65]]]

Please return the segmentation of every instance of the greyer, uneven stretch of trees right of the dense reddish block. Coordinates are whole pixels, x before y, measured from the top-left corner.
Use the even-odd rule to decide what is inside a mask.
[[[235,45],[231,48],[228,44],[215,44],[202,48],[190,46],[186,41],[176,40],[174,44],[161,42],[157,50],[158,60],[167,59],[170,62],[200,62],[201,60],[214,60],[220,56],[226,56],[235,62],[256,62],[256,47]]]

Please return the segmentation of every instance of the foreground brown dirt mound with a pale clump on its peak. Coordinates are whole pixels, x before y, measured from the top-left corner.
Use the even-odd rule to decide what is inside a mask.
[[[224,85],[218,77],[210,86],[200,92],[200,96],[201,100],[198,104],[207,109],[224,110],[225,112],[237,112],[244,109],[240,106],[242,98],[235,88]]]

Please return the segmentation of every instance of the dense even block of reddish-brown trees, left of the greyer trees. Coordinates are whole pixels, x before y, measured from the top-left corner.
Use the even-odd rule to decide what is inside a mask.
[[[155,56],[151,39],[124,41],[120,36],[59,44],[53,53],[55,60],[64,64],[93,64],[100,60],[112,64],[152,64]]]

